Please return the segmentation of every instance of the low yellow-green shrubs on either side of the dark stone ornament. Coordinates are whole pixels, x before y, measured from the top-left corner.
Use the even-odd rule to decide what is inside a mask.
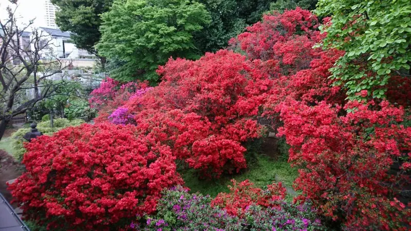
[[[69,127],[69,126],[79,126],[80,124],[84,123],[83,120],[72,120],[69,121],[67,119],[54,119],[53,120],[53,127],[51,127],[51,122],[50,121],[45,121],[37,124],[37,129],[45,135],[51,135],[56,131],[59,131],[63,128]],[[29,132],[31,128],[20,128],[17,131],[15,131],[12,135],[12,155],[13,157],[18,160],[22,161],[23,160],[23,155],[26,152],[26,149],[23,147],[23,143],[27,142],[25,139],[23,139],[24,134]]]

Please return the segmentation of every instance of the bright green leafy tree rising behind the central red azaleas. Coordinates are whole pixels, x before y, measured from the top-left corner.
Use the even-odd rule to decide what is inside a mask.
[[[203,4],[189,0],[116,0],[102,15],[100,54],[117,65],[111,78],[158,81],[155,70],[170,56],[195,59],[193,34],[211,21]]]

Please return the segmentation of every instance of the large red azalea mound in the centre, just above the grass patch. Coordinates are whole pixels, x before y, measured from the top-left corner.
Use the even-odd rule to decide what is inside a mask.
[[[139,131],[170,145],[173,155],[204,177],[246,167],[242,142],[258,138],[258,105],[272,81],[254,63],[234,52],[207,53],[198,61],[170,60],[162,82],[124,107]]]

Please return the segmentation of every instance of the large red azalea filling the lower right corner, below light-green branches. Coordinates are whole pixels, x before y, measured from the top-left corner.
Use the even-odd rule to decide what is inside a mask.
[[[385,101],[356,101],[349,108],[357,109],[340,116],[341,107],[325,102],[278,105],[284,122],[278,136],[286,137],[289,161],[300,167],[298,199],[311,200],[348,229],[406,230],[411,210],[396,199],[411,180],[411,127],[400,124],[404,110]]]

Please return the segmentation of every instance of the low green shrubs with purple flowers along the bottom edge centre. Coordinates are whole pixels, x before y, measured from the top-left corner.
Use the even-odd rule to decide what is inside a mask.
[[[278,202],[276,207],[248,206],[244,217],[213,207],[210,196],[189,194],[181,186],[164,192],[155,216],[139,217],[138,230],[321,230],[324,227],[307,205]]]

